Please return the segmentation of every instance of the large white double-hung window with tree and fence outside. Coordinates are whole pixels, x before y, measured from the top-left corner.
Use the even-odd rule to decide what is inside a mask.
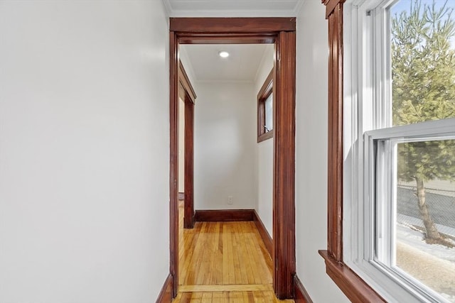
[[[455,302],[454,8],[345,6],[343,260],[388,302]]]

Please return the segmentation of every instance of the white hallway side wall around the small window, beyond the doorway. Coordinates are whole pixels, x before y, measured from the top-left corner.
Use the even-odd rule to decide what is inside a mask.
[[[274,64],[274,46],[269,45],[262,57],[255,80],[255,104],[257,93],[264,84]],[[257,105],[256,105],[257,106]],[[255,116],[257,119],[257,116]],[[273,236],[273,138],[257,143],[257,206],[256,212],[262,223]]]

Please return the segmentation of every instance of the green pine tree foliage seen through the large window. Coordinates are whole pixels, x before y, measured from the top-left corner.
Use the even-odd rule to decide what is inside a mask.
[[[446,4],[415,0],[409,12],[392,16],[394,125],[455,117],[455,21]],[[402,180],[455,178],[454,140],[403,143],[398,150]]]

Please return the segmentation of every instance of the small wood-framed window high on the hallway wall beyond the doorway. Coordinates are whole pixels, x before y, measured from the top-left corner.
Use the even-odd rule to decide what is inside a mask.
[[[273,137],[273,70],[257,94],[257,142]]]

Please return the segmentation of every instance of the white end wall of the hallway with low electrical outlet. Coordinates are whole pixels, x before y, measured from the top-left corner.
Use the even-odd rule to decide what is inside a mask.
[[[254,209],[255,89],[242,82],[198,82],[196,87],[195,209]]]

